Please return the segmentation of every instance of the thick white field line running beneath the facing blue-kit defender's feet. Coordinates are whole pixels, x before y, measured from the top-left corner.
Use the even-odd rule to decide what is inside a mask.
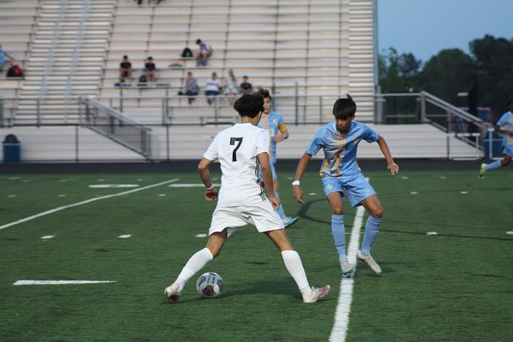
[[[366,178],[368,182],[368,178]],[[348,261],[354,266],[356,272],[356,252],[358,252],[360,242],[360,230],[363,226],[363,214],[365,208],[363,205],[357,207],[356,216],[353,222],[353,230],[351,231],[351,239],[348,245]],[[349,326],[349,312],[351,311],[351,301],[353,301],[353,278],[342,278],[340,294],[338,295],[338,303],[335,311],[335,320],[331,329],[330,342],[346,341],[347,329]]]

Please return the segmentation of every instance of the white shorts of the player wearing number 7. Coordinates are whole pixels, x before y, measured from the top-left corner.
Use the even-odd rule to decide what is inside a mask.
[[[209,235],[227,229],[228,235],[247,224],[257,227],[259,233],[284,229],[284,224],[272,207],[269,199],[255,204],[245,204],[236,207],[217,207],[212,214]]]

